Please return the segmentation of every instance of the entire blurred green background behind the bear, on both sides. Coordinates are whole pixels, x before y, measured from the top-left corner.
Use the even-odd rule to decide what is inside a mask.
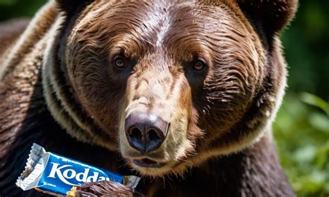
[[[33,17],[45,2],[0,0],[0,21]],[[301,0],[282,42],[289,87],[273,126],[280,160],[298,196],[329,196],[329,1]]]

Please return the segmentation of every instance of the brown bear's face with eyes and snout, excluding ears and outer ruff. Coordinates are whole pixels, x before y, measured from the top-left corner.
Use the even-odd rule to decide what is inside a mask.
[[[144,175],[238,151],[263,126],[221,140],[236,132],[266,72],[258,35],[229,3],[95,1],[66,44],[76,99]]]

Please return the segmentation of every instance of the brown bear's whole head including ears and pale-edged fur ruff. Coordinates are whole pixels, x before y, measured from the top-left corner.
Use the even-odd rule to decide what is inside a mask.
[[[296,0],[56,6],[45,97],[77,139],[158,176],[240,151],[271,126],[286,76],[276,34]]]

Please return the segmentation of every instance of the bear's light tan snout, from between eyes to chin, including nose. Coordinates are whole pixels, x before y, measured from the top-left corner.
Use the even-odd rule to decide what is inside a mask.
[[[170,69],[174,60],[159,60],[163,56],[146,56],[135,65],[119,114],[121,155],[144,175],[164,175],[194,151],[187,137],[195,128],[191,87],[182,70]]]

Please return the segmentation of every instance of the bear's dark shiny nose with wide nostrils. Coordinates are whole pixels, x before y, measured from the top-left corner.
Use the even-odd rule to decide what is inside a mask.
[[[155,114],[131,112],[124,129],[130,146],[142,153],[149,153],[160,147],[168,127],[169,123]]]

